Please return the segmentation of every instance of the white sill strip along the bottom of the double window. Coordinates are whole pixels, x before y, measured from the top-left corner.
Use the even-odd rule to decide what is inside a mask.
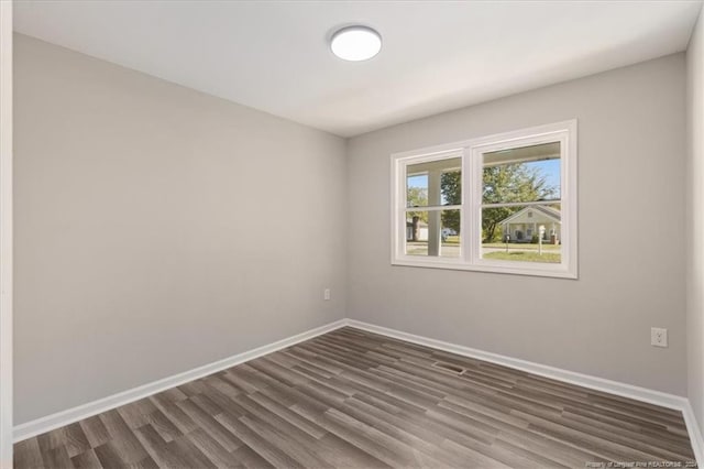
[[[562,265],[553,266],[553,265],[546,265],[540,263],[530,263],[529,265],[525,265],[525,266],[521,265],[517,268],[517,266],[508,266],[508,265],[495,265],[495,264],[488,264],[488,263],[468,264],[461,260],[431,261],[431,260],[420,260],[420,259],[394,259],[392,261],[392,265],[579,280],[579,276],[576,274],[576,269],[568,270]]]

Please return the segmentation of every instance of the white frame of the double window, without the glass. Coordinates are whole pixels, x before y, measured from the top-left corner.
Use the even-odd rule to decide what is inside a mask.
[[[482,155],[487,152],[560,142],[560,211],[562,257],[558,264],[482,259]],[[419,257],[406,252],[406,167],[450,157],[462,159],[460,257]],[[437,145],[391,157],[392,264],[518,275],[578,279],[578,144],[576,119],[512,132]],[[546,201],[520,205],[547,205]],[[446,210],[458,206],[417,207],[418,211]],[[474,227],[473,229],[469,229]]]

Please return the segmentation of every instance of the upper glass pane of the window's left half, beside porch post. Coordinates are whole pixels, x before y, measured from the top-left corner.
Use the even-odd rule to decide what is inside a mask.
[[[406,206],[460,205],[462,159],[430,161],[406,166]]]

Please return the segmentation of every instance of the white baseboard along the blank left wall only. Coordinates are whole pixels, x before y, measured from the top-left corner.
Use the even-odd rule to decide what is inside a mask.
[[[77,407],[68,408],[66,411],[57,412],[45,417],[30,421],[22,425],[16,425],[13,432],[13,440],[14,443],[18,443],[22,441],[23,439],[32,438],[33,436],[73,424],[84,418],[88,418],[90,416],[109,411],[111,408],[139,401],[140,399],[156,394],[169,388],[178,386],[189,381],[207,377],[208,374],[212,374],[230,367],[243,363],[245,361],[262,357],[264,355],[275,352],[286,347],[290,347],[298,342],[312,339],[314,337],[344,327],[346,326],[346,319],[340,319],[324,326],[316,327],[296,336],[287,337],[285,339],[277,340],[275,342],[257,347],[255,349],[248,350],[245,352],[238,353],[232,357],[205,364],[202,367],[194,368],[193,370],[184,371],[183,373],[174,374],[172,377],[153,381],[151,383],[133,388],[131,390],[122,391],[120,393],[79,405]]]

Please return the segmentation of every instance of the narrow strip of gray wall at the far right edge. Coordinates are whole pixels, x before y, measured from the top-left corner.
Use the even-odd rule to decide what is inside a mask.
[[[704,11],[686,53],[688,395],[704,434]]]

